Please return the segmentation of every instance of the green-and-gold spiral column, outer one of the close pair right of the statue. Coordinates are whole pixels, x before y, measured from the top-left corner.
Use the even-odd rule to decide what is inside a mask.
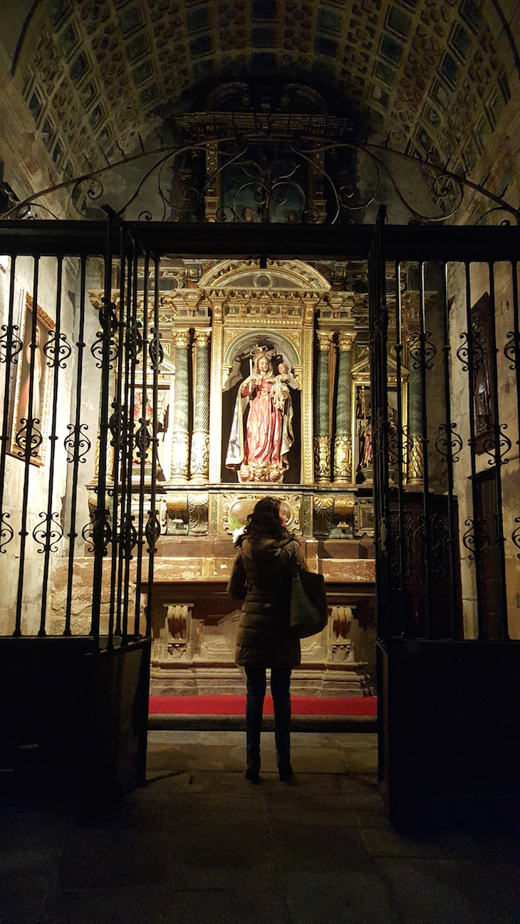
[[[338,395],[336,398],[336,436],[334,439],[334,483],[349,484],[353,479],[352,349],[354,331],[341,331],[339,337]]]

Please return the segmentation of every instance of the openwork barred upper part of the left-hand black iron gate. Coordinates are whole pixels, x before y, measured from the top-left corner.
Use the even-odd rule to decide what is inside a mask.
[[[12,588],[15,637],[59,634],[56,618],[53,624],[47,609],[52,560],[58,555],[68,561],[62,632],[64,636],[74,634],[74,564],[82,543],[93,556],[90,635],[94,648],[111,649],[149,636],[147,614],[160,532],[155,506],[157,383],[162,359],[155,285],[158,257],[141,249],[124,225],[119,225],[118,233],[117,253],[109,217],[104,254],[81,248],[83,252],[76,256],[72,243],[70,252],[58,248],[56,257],[48,257],[42,238],[36,235],[26,238],[24,252],[8,254],[8,308],[0,342],[5,370],[0,551],[6,562],[16,549],[18,560],[18,585]],[[8,240],[3,249],[8,251]],[[87,295],[87,266],[92,267],[93,261],[100,265],[97,272],[104,278],[98,326]],[[23,282],[18,283],[20,262],[24,263],[20,275],[25,279],[31,264],[27,290]],[[71,284],[76,284],[76,293],[66,290]],[[51,289],[53,305],[48,304]],[[118,293],[116,301],[114,292]],[[88,342],[86,327],[92,342]],[[70,423],[64,419],[69,406]],[[85,419],[89,407],[93,413]],[[134,407],[140,407],[137,419]],[[82,475],[80,479],[83,467],[88,478]],[[9,489],[10,480],[19,475],[17,468],[23,472],[17,478],[23,486],[20,505]],[[58,492],[65,479],[69,503],[60,509]],[[85,485],[91,492],[87,517]],[[132,505],[136,497],[138,503]],[[38,502],[43,509],[33,523],[30,507]],[[33,613],[31,625],[23,626],[22,611],[27,613],[31,602],[24,596],[27,574],[39,556],[43,568],[38,625]],[[130,570],[136,587],[132,601]],[[142,609],[143,582],[148,582],[146,612]],[[104,613],[106,590],[108,609]]]

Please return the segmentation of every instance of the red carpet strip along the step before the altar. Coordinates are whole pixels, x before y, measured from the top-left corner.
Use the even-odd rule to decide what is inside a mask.
[[[378,699],[367,697],[292,696],[293,715],[377,715]],[[266,715],[273,699],[266,696]],[[245,715],[245,696],[151,696],[151,715]]]

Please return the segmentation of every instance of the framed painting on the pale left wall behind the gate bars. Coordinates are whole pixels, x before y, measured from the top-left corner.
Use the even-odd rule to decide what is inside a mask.
[[[49,366],[45,347],[52,340],[55,323],[38,305],[36,307],[35,343],[32,346],[33,304],[30,295],[22,303],[22,317],[19,324],[21,348],[16,368],[14,401],[11,418],[10,453],[19,458],[25,457],[28,438],[28,421],[31,417],[31,456],[32,465],[42,466],[48,443],[49,411],[53,386],[54,370]],[[32,401],[31,398],[31,363],[33,365]]]

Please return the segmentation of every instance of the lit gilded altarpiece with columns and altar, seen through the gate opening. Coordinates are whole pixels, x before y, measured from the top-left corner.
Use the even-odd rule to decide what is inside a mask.
[[[323,269],[303,261],[161,263],[157,694],[243,689],[233,658],[238,604],[226,584],[233,532],[266,494],[279,499],[289,529],[303,537],[307,566],[328,582],[328,626],[303,641],[292,688],[356,696],[372,687],[373,530],[359,528],[369,511],[354,477],[354,302]],[[99,298],[91,292],[94,304]],[[117,382],[113,388],[116,394]],[[139,372],[135,395],[135,432],[150,435],[152,401]],[[255,400],[274,420],[266,444],[257,438]],[[136,512],[142,493],[149,501],[152,442],[143,440],[149,458],[143,483],[132,477]],[[91,491],[94,503],[94,484]]]

